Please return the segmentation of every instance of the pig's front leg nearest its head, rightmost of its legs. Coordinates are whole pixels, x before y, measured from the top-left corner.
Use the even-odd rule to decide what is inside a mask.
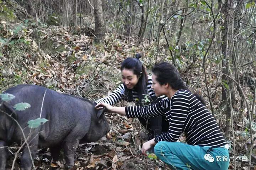
[[[74,166],[75,149],[78,147],[79,140],[64,141],[64,155],[68,168]]]

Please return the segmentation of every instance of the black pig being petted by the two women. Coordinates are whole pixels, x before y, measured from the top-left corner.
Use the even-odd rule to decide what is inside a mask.
[[[56,161],[63,146],[68,167],[74,165],[75,148],[79,143],[95,142],[110,131],[104,115],[105,108],[96,110],[90,100],[29,84],[9,88],[4,93],[12,94],[15,98],[10,101],[0,100],[1,170],[4,170],[6,165],[7,150],[4,147],[14,142],[24,142],[22,131],[14,119],[20,124],[26,138],[28,137],[33,158],[38,146],[42,146],[50,148],[53,160]],[[29,103],[31,107],[23,111],[15,110],[13,106],[21,102]],[[48,121],[30,129],[27,122],[37,119],[40,114],[41,118]],[[22,151],[21,168],[31,169],[32,161],[26,144]]]

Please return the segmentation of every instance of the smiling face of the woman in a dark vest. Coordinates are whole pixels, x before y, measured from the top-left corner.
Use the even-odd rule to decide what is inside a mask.
[[[126,85],[128,89],[133,89],[134,86],[136,86],[136,84],[139,81],[138,76],[133,73],[133,70],[128,70],[126,68],[124,68],[121,71],[121,73],[122,73],[122,82]]]

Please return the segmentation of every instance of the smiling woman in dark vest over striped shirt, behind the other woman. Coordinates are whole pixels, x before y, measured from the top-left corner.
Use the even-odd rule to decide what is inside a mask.
[[[136,54],[135,58],[129,57],[121,64],[122,84],[117,87],[110,95],[105,98],[98,99],[94,103],[107,103],[113,105],[120,100],[134,102],[137,106],[150,105],[158,103],[164,97],[156,97],[153,89],[151,89],[152,76],[147,75],[146,69],[139,60],[140,54]],[[150,103],[145,103],[145,96]],[[167,132],[169,125],[165,120],[165,116],[160,117],[139,117],[140,123],[149,131],[148,139],[153,139]]]

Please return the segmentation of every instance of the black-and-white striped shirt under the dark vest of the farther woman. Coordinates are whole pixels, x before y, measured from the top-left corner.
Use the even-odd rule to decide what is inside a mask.
[[[155,96],[155,93],[153,89],[151,88],[153,81],[152,81],[152,76],[148,75],[148,84],[147,84],[147,93],[149,97]],[[133,102],[137,103],[139,101],[138,97],[138,92],[132,89],[132,94],[133,94]],[[165,96],[161,96],[160,99],[165,98]],[[108,95],[105,98],[98,99],[94,103],[108,103],[110,105],[113,105],[117,102],[119,102],[121,99],[124,99],[124,84],[122,83],[120,86],[117,87],[116,90],[114,90],[110,95]]]

